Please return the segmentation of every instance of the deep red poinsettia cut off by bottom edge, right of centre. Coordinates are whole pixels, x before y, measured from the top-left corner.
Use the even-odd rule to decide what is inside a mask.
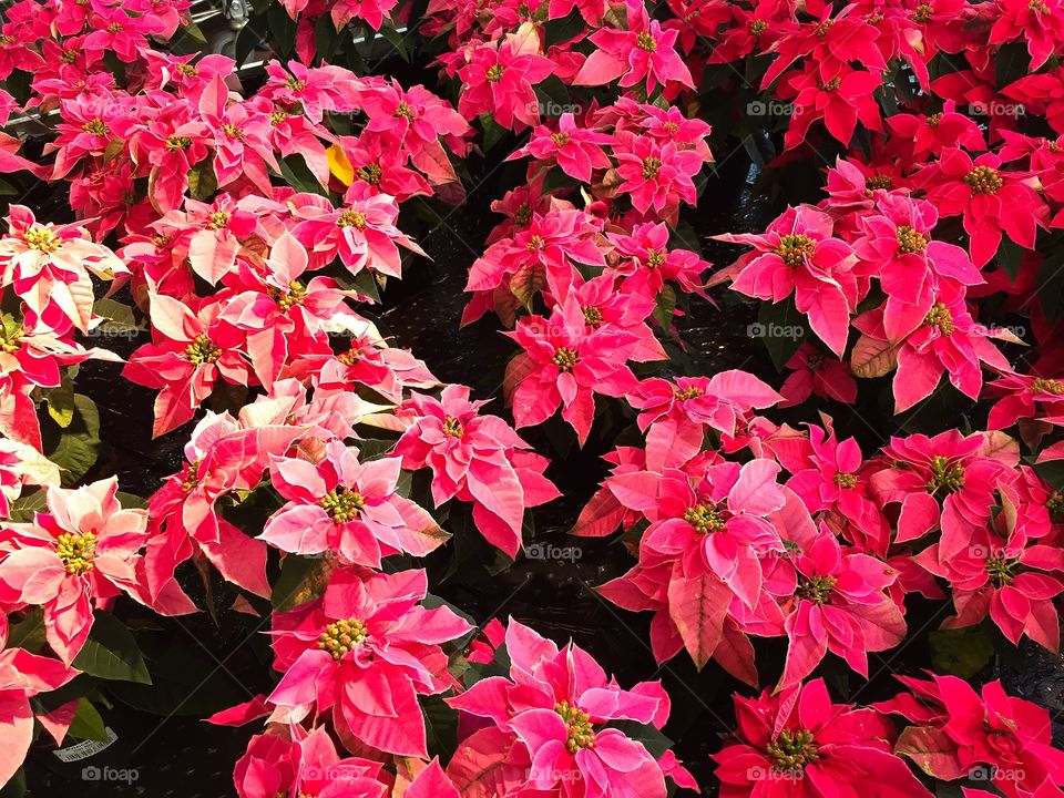
[[[832,704],[823,679],[759,698],[735,697],[738,729],[713,755],[720,798],[833,798],[869,785],[882,798],[931,798],[891,753],[893,724]]]

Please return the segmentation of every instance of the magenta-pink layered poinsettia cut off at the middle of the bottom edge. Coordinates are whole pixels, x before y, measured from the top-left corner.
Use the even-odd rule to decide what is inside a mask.
[[[508,757],[499,794],[664,798],[665,776],[654,756],[642,743],[606,726],[618,720],[664,726],[669,702],[659,683],[623,689],[575,644],[559,648],[512,618],[505,646],[507,676],[480,679],[448,699],[452,707],[491,723],[459,745],[448,768],[452,778],[475,765],[485,743],[502,747],[515,738],[528,758]]]

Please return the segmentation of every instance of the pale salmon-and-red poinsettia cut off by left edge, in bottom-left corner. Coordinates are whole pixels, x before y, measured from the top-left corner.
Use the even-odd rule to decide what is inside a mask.
[[[78,672],[52,657],[8,647],[8,618],[0,614],[0,784],[22,766],[33,741],[30,699],[62,687]]]

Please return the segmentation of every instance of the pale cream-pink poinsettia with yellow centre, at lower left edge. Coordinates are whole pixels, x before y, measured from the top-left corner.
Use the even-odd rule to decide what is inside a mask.
[[[9,523],[0,544],[0,597],[42,605],[48,644],[70,664],[92,628],[92,611],[122,593],[141,601],[136,564],[147,513],[125,510],[111,478],[51,488],[48,512]]]

